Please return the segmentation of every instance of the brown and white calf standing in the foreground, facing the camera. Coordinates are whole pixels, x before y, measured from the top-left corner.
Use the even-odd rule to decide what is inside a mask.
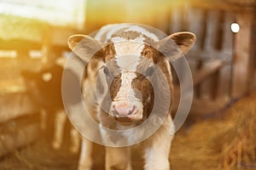
[[[105,42],[108,44],[101,48]],[[129,24],[105,26],[94,38],[84,35],[69,37],[69,48],[87,63],[82,90],[84,102],[89,105],[90,115],[96,119],[99,126],[113,129],[136,127],[145,121],[154,107],[154,99],[160,99],[161,95],[154,94],[151,85],[151,82],[161,84],[155,65],[166,78],[166,86],[170,92],[168,95],[172,96],[172,72],[168,59],[178,59],[194,42],[195,35],[190,32],[174,33],[160,40],[143,27]],[[93,59],[89,59],[94,48],[100,50]],[[96,104],[94,89],[97,75],[100,75],[98,77],[102,82],[100,102],[107,98],[108,90],[110,94],[111,103],[105,111]],[[157,87],[160,88],[161,85]],[[174,125],[171,116],[172,102],[168,105],[168,114],[160,128],[148,139],[137,144],[144,150],[146,170],[170,169],[169,154],[173,137],[170,131]],[[123,137],[127,141],[136,140],[146,130],[134,130],[129,133],[127,131],[123,133]],[[105,142],[116,143],[119,140],[111,138],[104,130],[101,134]],[[91,168],[91,147],[91,142],[84,139],[79,161],[80,170]],[[131,170],[131,147],[106,146],[106,169]]]

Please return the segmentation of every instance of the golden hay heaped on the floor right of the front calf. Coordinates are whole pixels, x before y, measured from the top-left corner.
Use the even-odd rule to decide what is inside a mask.
[[[193,115],[192,115],[193,116]],[[172,169],[256,168],[256,92],[215,118],[180,129],[172,143]]]

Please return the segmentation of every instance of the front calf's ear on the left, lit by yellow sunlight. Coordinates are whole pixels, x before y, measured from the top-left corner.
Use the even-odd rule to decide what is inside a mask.
[[[88,62],[92,56],[102,57],[103,55],[102,43],[90,36],[81,34],[73,35],[68,37],[67,44],[73,53],[85,62]]]

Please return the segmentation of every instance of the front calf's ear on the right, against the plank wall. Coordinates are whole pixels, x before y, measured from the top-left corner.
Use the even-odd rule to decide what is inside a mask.
[[[195,34],[187,31],[173,33],[161,39],[157,49],[167,58],[176,60],[186,54],[195,43]]]

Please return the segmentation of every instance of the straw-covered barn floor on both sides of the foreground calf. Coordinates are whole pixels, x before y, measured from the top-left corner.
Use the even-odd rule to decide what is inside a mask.
[[[184,124],[172,143],[172,169],[256,169],[256,140],[255,135],[249,133],[256,129],[255,114],[256,92],[253,92],[224,111],[204,116],[208,118],[199,119],[193,124]],[[71,154],[67,146],[68,142],[65,141],[61,150],[52,150],[49,139],[42,138],[1,158],[0,169],[77,169],[79,154]],[[103,169],[103,157],[103,148],[97,145],[94,152],[95,170]],[[137,157],[133,159],[134,169],[142,169],[142,162]]]

